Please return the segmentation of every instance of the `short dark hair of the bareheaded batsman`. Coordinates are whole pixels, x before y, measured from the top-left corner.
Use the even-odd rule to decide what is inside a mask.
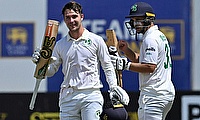
[[[76,13],[80,13],[80,14],[83,13],[82,6],[75,1],[70,1],[69,3],[65,4],[65,6],[62,9],[63,15],[66,9],[74,10]]]

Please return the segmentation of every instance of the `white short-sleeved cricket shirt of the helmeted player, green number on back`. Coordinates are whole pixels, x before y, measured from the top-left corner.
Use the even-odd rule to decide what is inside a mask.
[[[139,62],[157,65],[153,73],[139,73],[142,92],[165,96],[175,94],[171,81],[172,62],[169,43],[157,25],[150,27],[143,36]]]

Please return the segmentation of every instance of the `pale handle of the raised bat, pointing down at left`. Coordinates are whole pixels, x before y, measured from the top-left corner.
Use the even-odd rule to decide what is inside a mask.
[[[29,105],[30,110],[33,110],[33,108],[34,108],[35,99],[36,99],[36,96],[37,96],[37,93],[38,93],[38,88],[40,86],[41,81],[42,81],[42,79],[36,79],[36,84],[35,84],[35,88],[34,88],[34,91],[33,91],[32,98],[31,98],[31,103]]]

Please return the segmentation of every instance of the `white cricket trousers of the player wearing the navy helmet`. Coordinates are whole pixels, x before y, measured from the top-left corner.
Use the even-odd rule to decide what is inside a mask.
[[[173,105],[174,98],[169,100],[162,97],[140,95],[138,103],[138,120],[165,120]]]

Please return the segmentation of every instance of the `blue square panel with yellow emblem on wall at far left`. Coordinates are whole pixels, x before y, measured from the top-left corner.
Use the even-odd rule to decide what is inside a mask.
[[[33,23],[2,23],[1,56],[27,57],[33,53]]]

